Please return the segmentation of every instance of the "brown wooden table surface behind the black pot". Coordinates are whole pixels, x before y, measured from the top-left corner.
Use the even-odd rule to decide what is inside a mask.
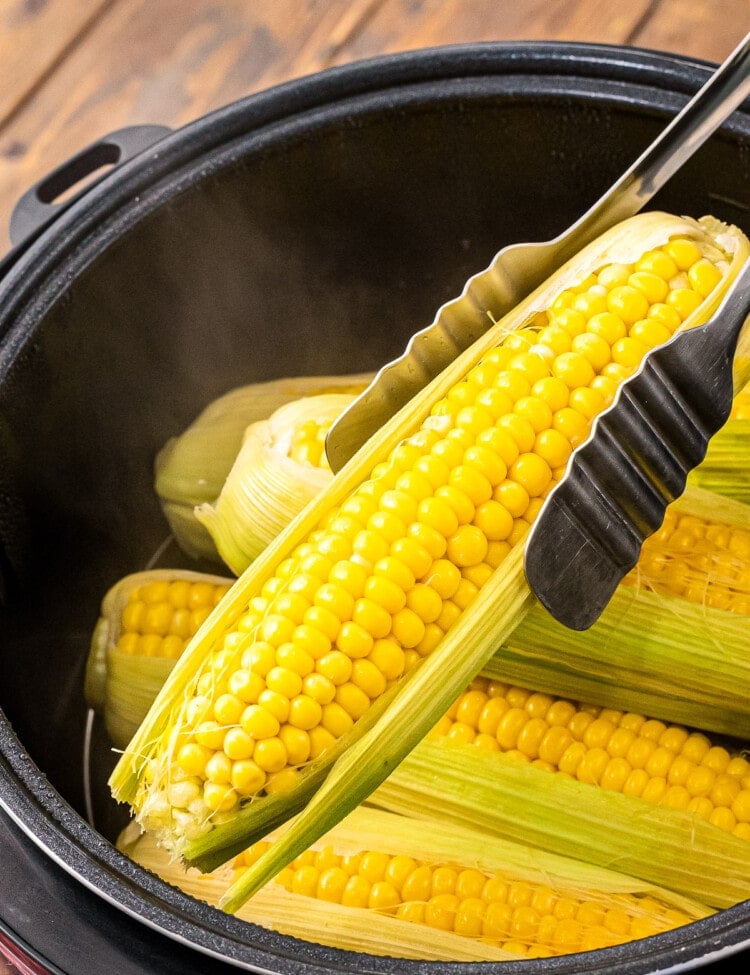
[[[576,40],[717,62],[748,30],[750,0],[0,0],[0,255],[24,190],[123,126],[387,52]]]

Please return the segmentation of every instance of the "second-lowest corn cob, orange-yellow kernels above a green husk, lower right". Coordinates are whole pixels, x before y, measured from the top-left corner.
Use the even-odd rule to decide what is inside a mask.
[[[750,896],[750,762],[644,715],[477,678],[370,801],[714,907]]]

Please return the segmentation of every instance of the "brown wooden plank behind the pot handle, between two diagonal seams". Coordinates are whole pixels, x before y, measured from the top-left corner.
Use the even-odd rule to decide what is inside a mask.
[[[178,127],[283,81],[299,73],[301,50],[315,70],[328,56],[329,38],[342,25],[346,33],[374,2],[111,4],[29,104],[0,127],[0,253],[9,244],[15,201],[71,155],[123,126]]]

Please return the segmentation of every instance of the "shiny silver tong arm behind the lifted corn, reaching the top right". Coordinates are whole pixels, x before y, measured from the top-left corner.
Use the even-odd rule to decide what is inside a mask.
[[[564,233],[512,244],[443,305],[398,359],[383,366],[331,427],[326,453],[340,470],[359,447],[498,318],[609,227],[641,210],[719,125],[750,96],[750,34],[609,190]]]

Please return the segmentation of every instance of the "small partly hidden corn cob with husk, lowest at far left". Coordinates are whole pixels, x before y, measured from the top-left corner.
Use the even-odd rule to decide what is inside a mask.
[[[104,716],[115,746],[130,741],[175,660],[232,581],[151,569],[125,576],[107,591],[91,638],[84,694]]]

